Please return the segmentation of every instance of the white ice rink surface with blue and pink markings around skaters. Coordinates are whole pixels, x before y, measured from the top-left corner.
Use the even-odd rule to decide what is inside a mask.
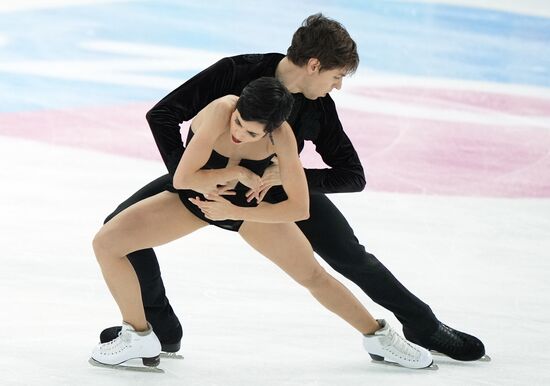
[[[163,359],[164,374],[90,366],[98,333],[120,323],[91,240],[166,170],[145,113],[223,56],[286,52],[319,11],[361,57],[331,95],[367,189],[330,198],[492,361],[372,364],[345,322],[207,227],[158,248],[184,359]],[[302,159],[322,167],[312,147]],[[550,384],[548,1],[4,1],[0,161],[1,385]]]

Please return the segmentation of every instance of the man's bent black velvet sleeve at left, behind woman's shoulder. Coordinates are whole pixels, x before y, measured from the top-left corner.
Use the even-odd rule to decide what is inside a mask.
[[[172,91],[147,113],[160,155],[172,176],[184,151],[180,124],[214,99],[231,94],[234,75],[233,60],[223,58]]]

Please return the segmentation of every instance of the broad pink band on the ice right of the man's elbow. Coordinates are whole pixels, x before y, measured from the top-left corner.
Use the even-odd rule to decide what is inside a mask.
[[[343,110],[374,190],[550,197],[550,131]]]

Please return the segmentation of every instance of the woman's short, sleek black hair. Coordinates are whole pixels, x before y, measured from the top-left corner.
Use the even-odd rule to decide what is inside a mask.
[[[264,124],[264,131],[271,137],[271,132],[290,115],[293,102],[292,94],[280,81],[262,77],[246,85],[237,101],[237,110],[245,121]]]

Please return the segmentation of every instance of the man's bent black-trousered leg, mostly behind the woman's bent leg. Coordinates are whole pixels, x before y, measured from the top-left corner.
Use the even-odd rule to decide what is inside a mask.
[[[148,183],[121,203],[113,213],[107,216],[104,223],[107,223],[131,205],[166,190],[166,185],[170,182],[171,177],[166,174]],[[153,248],[148,248],[132,252],[128,255],[128,260],[134,267],[141,286],[145,316],[162,343],[162,350],[168,352],[178,351],[183,331],[178,317],[166,297],[155,251]],[[116,336],[118,331],[118,328],[105,330],[102,333],[101,341],[111,340],[111,335],[115,334]]]

